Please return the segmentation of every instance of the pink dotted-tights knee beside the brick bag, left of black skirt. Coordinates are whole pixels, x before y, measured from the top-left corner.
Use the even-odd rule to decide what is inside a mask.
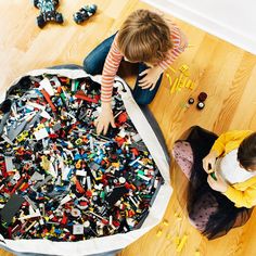
[[[187,141],[177,141],[172,149],[172,155],[185,177],[190,179],[191,168],[193,166],[193,152],[190,143]]]

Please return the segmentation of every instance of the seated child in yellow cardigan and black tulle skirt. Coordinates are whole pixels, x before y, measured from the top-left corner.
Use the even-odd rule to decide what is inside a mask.
[[[208,239],[244,225],[256,205],[256,132],[233,130],[219,138],[193,127],[174,156],[189,178],[191,223]]]

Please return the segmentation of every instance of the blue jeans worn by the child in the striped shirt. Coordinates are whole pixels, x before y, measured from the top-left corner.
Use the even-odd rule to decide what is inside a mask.
[[[92,50],[89,53],[89,55],[84,60],[84,68],[88,74],[90,75],[102,74],[105,59],[107,56],[107,53],[110,52],[115,35],[105,39],[101,44],[99,44],[94,50]],[[156,82],[155,88],[152,91],[150,89],[142,89],[139,86],[139,79],[141,78],[139,77],[139,74],[145,71],[146,68],[149,68],[149,66],[146,66],[144,63],[139,63],[139,73],[137,76],[135,89],[132,91],[132,95],[136,102],[140,105],[148,105],[152,102],[152,100],[154,99],[159,88],[162,77],[163,77],[163,74],[162,74]]]

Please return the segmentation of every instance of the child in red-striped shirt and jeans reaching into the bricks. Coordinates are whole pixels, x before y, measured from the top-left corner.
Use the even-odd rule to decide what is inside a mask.
[[[140,105],[154,99],[163,73],[184,51],[187,38],[170,21],[148,10],[132,12],[112,37],[98,46],[84,61],[88,74],[102,73],[102,112],[95,121],[97,132],[106,133],[115,127],[112,113],[112,90],[121,60],[139,63],[139,74],[132,91]]]

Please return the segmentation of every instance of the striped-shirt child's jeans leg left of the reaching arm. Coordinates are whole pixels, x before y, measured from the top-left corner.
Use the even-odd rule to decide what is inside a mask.
[[[111,46],[115,38],[115,35],[116,34],[105,39],[94,50],[92,50],[84,60],[84,69],[88,74],[90,75],[102,74],[105,59],[106,59],[107,53],[111,50]]]

